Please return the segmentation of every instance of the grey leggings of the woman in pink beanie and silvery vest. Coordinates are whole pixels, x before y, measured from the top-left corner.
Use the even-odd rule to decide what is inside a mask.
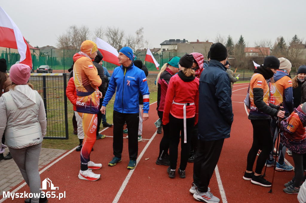
[[[41,192],[39,190],[41,184],[38,170],[40,150],[41,143],[22,149],[13,149],[9,147],[9,152],[33,194]],[[39,198],[32,198],[31,202],[38,203]]]

